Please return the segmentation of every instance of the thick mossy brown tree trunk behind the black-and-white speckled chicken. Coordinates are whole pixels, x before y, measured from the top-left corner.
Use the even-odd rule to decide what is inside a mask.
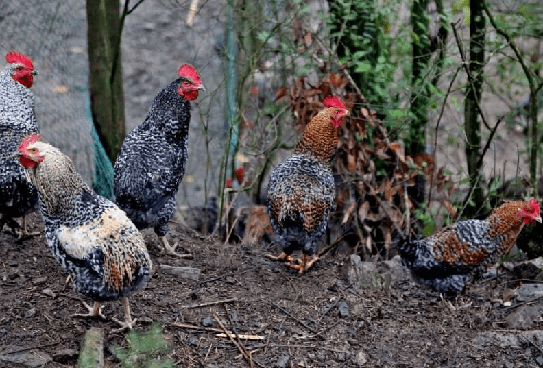
[[[125,136],[119,0],[87,0],[90,108],[112,162]]]

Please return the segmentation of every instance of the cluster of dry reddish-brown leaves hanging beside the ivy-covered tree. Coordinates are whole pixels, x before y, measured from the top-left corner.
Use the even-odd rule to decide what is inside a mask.
[[[324,97],[337,95],[343,99],[350,116],[339,128],[333,160],[337,208],[328,225],[336,238],[330,242],[339,244],[349,239],[348,245],[361,253],[363,259],[386,259],[393,256],[389,248],[395,236],[411,232],[416,220],[413,199],[407,191],[415,186],[417,175],[429,178],[426,186],[433,185],[434,191],[448,191],[450,195],[453,186],[445,185],[450,178],[443,169],[435,172],[433,156],[405,155],[403,143],[390,140],[377,112],[363,95],[352,92],[356,88],[348,88],[349,84],[350,79],[341,73],[330,73],[317,86],[309,85],[304,78],[298,79],[289,90],[294,124],[302,130],[324,108]],[[372,130],[372,138],[368,138],[368,129]],[[423,190],[426,192],[426,188]],[[446,199],[444,205],[454,210]]]

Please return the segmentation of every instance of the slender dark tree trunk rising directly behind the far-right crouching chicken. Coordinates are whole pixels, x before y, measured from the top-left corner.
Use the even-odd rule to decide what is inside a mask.
[[[481,210],[484,203],[483,175],[477,164],[481,156],[481,124],[477,119],[481,106],[481,87],[485,65],[485,16],[483,1],[470,1],[470,60],[466,103],[464,104],[464,131],[466,132],[466,160],[470,175],[470,195],[466,214]],[[472,200],[470,200],[472,199]]]

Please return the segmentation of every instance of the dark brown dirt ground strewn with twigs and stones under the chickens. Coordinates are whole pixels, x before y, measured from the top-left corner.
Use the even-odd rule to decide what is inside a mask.
[[[43,230],[33,218],[32,230]],[[481,281],[465,295],[439,294],[403,282],[357,290],[344,278],[345,259],[326,256],[304,275],[265,257],[263,245],[226,245],[171,224],[178,252],[160,253],[158,239],[144,231],[154,272],[131,298],[133,317],[145,330],[163,324],[176,367],[251,367],[239,349],[217,332],[215,315],[229,330],[258,336],[239,340],[253,367],[539,367],[538,336],[499,343],[493,334],[507,328],[514,306],[500,302],[514,283],[501,275]],[[86,331],[104,328],[106,367],[121,367],[111,348],[125,346],[125,334],[109,332],[110,320],[71,317],[82,313],[82,295],[64,283],[43,237],[15,241],[0,233],[0,356],[15,350],[51,356],[43,367],[75,367]],[[194,267],[199,280],[162,271],[160,265]],[[90,301],[87,301],[90,302]],[[122,318],[119,303],[108,302],[106,317]],[[541,319],[536,318],[535,326]],[[194,326],[194,328],[188,328]],[[537,330],[537,328],[536,328]],[[519,332],[520,333],[520,332]],[[15,345],[16,347],[14,347]],[[27,367],[0,360],[1,367]]]

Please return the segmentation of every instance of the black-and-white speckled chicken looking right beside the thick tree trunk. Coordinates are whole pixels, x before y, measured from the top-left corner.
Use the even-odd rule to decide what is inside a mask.
[[[196,69],[183,64],[180,78],[163,88],[147,119],[125,138],[114,168],[114,195],[138,229],[154,228],[168,254],[168,222],[185,171],[192,101],[204,90]]]

